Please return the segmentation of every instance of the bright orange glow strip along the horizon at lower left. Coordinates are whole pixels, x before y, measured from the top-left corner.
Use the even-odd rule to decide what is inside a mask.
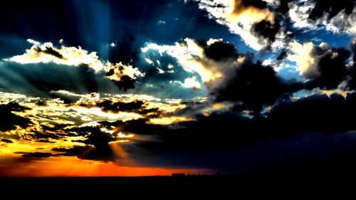
[[[49,157],[21,162],[22,158],[1,162],[0,177],[145,177],[174,173],[210,174],[204,169],[167,169],[161,167],[121,167],[76,157]]]

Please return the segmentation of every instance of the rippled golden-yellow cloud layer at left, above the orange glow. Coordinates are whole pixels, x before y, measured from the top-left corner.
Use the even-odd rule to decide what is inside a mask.
[[[143,115],[136,113],[135,111],[122,111],[122,112],[108,112],[100,107],[96,106],[97,102],[102,102],[104,100],[115,100],[116,98],[111,98],[114,95],[110,95],[110,98],[100,98],[98,93],[90,94],[76,94],[71,93],[66,90],[53,91],[52,93],[58,93],[62,95],[78,97],[79,100],[73,104],[66,105],[62,100],[50,99],[43,100],[44,103],[41,106],[37,105],[37,102],[41,101],[39,98],[28,98],[25,95],[14,95],[13,93],[3,93],[7,97],[7,102],[21,102],[21,105],[30,107],[30,110],[24,110],[23,112],[16,112],[16,115],[21,117],[28,117],[33,122],[38,122],[41,124],[67,124],[67,125],[81,125],[83,123],[98,121],[98,120],[135,120]],[[105,96],[105,95],[103,95]],[[108,95],[107,95],[108,96]],[[127,98],[116,99],[122,102],[132,102],[137,99],[148,99],[155,100],[148,95],[126,95]],[[6,98],[4,98],[5,100]],[[85,107],[81,106],[85,103]],[[156,107],[157,102],[152,102],[149,108]],[[149,102],[147,102],[149,104]],[[158,103],[157,106],[164,105],[163,103]],[[168,105],[162,106],[162,109],[167,108],[169,110],[175,110],[177,107],[169,107]]]

